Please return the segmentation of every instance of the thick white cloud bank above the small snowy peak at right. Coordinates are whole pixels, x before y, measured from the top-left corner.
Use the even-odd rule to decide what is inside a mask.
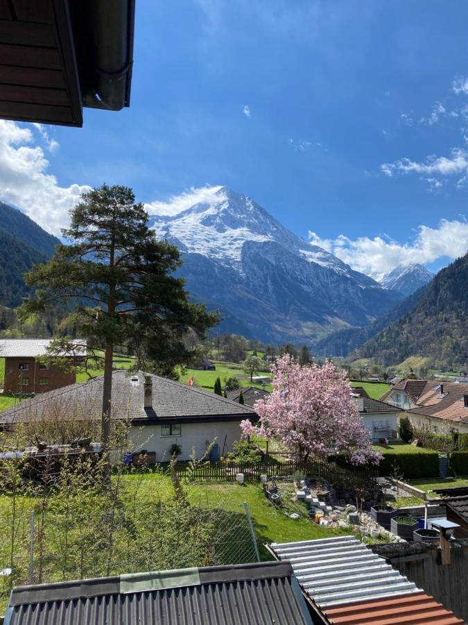
[[[468,222],[465,219],[451,222],[441,219],[436,228],[419,226],[414,240],[405,244],[385,235],[355,240],[345,235],[322,239],[312,231],[309,241],[335,254],[353,269],[379,278],[398,265],[424,265],[442,257],[455,259],[463,256],[468,251]]]

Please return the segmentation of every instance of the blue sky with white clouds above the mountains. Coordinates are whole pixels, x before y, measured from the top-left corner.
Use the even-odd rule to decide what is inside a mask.
[[[131,106],[0,120],[0,199],[55,234],[89,185],[226,185],[374,276],[468,250],[465,0],[137,1]]]

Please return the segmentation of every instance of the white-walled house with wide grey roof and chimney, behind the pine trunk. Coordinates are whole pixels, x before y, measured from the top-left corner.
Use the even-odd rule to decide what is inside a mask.
[[[0,412],[0,426],[12,426],[31,419],[47,419],[49,414],[76,418],[80,412],[101,419],[104,376],[82,384],[72,384],[21,401]],[[232,451],[241,437],[244,419],[256,422],[250,406],[159,376],[136,372],[131,376],[118,369],[112,374],[111,419],[129,422],[132,451],[145,450],[157,462],[168,460],[173,444],[181,447],[180,460],[189,460],[192,449],[198,458],[209,444],[211,459]]]

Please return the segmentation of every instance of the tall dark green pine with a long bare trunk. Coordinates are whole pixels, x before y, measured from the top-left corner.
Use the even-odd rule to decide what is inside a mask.
[[[26,274],[37,292],[19,314],[24,319],[60,301],[75,303],[71,319],[77,333],[91,349],[104,352],[101,444],[106,457],[114,349],[130,347],[140,367],[170,372],[187,362],[189,329],[202,335],[217,315],[189,301],[184,281],[173,275],[181,265],[179,251],[155,238],[131,189],[103,185],[84,193],[62,233],[70,244],[58,245],[48,263]],[[63,349],[55,343],[51,351]]]

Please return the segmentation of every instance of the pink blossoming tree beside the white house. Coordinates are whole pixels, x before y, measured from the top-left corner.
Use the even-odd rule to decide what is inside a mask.
[[[333,363],[301,367],[285,354],[273,365],[272,374],[273,392],[255,402],[259,425],[243,421],[244,435],[279,440],[297,460],[336,454],[356,465],[380,460],[381,454],[370,445],[346,372]]]

